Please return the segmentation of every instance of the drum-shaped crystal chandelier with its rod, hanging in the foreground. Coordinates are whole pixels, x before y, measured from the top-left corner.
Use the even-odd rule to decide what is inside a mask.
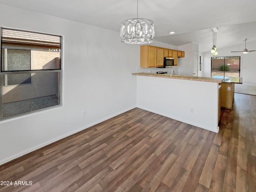
[[[154,36],[154,22],[149,19],[138,18],[137,0],[137,18],[127,19],[121,22],[121,42],[128,44],[146,44],[153,42]]]

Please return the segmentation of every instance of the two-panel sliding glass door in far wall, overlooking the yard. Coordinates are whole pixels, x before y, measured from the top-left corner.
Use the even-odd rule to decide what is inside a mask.
[[[240,57],[212,57],[212,77],[240,77]]]

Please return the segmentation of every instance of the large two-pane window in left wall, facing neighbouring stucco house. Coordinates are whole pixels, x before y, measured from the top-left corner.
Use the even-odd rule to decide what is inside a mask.
[[[61,104],[61,36],[1,29],[0,120]]]

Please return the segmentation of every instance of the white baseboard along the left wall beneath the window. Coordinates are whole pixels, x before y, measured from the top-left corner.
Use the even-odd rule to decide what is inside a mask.
[[[40,148],[42,148],[42,147],[44,147],[44,146],[46,146],[46,145],[49,145],[49,144],[51,144],[51,143],[54,143],[54,142],[56,142],[56,141],[58,141],[58,140],[61,140],[61,139],[63,139],[63,138],[66,138],[66,137],[68,137],[68,136],[70,136],[70,135],[72,135],[72,134],[75,134],[75,133],[77,133],[77,132],[80,132],[80,131],[82,131],[82,130],[85,130],[85,129],[91,127],[91,126],[94,126],[94,125],[96,125],[96,124],[98,124],[98,123],[101,123],[101,122],[103,122],[103,121],[105,121],[105,120],[108,120],[108,119],[110,119],[110,118],[112,118],[112,117],[114,117],[114,116],[117,116],[117,115],[119,115],[119,114],[122,114],[122,113],[124,113],[124,112],[126,112],[126,111],[129,111],[129,110],[131,110],[131,109],[134,109],[134,108],[136,108],[136,106],[133,106],[133,107],[128,108],[128,109],[126,109],[126,110],[120,111],[120,112],[118,112],[118,113],[116,113],[116,114],[110,115],[110,116],[108,116],[108,117],[106,117],[106,118],[103,118],[103,119],[101,119],[101,120],[98,120],[98,121],[96,121],[96,122],[93,122],[93,123],[91,123],[91,124],[88,124],[88,125],[86,125],[86,126],[84,126],[84,127],[81,127],[81,128],[79,128],[79,129],[76,129],[76,130],[74,130],[74,131],[72,131],[72,132],[66,133],[66,134],[61,135],[61,136],[59,136],[59,137],[57,137],[57,138],[48,140],[48,141],[46,141],[46,142],[44,142],[44,143],[42,143],[42,144],[39,144],[39,145],[37,145],[37,146],[34,146],[34,147],[32,147],[32,148],[29,148],[29,149],[27,149],[27,150],[21,151],[21,152],[19,152],[19,153],[17,153],[17,154],[14,154],[14,155],[12,155],[12,156],[9,156],[9,157],[7,157],[7,158],[4,158],[4,159],[0,160],[0,165],[5,164],[5,163],[7,163],[7,162],[9,162],[9,161],[11,161],[11,160],[14,160],[14,159],[16,159],[16,158],[19,158],[19,157],[21,157],[21,156],[23,156],[23,155],[25,155],[25,154],[28,154],[28,153],[30,153],[30,152],[33,152],[33,151],[35,151],[35,150],[38,150],[38,149],[40,149]]]

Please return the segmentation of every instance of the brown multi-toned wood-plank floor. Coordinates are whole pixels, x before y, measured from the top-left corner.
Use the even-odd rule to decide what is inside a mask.
[[[245,94],[218,134],[135,108],[0,166],[0,192],[256,192],[255,125]]]

